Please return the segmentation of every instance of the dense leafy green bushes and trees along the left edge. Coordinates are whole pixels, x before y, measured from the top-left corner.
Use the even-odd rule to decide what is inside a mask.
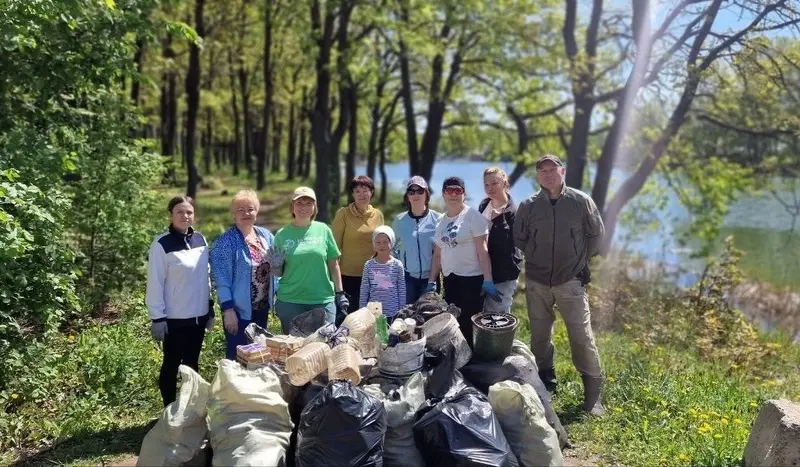
[[[119,83],[132,72],[129,33],[152,6],[12,1],[0,13],[0,170],[19,184],[4,200],[18,219],[4,222],[29,233],[5,250],[6,271],[30,284],[10,288],[13,309],[34,308],[39,325],[73,311],[76,277],[95,305],[141,277],[160,167],[129,137],[139,120]]]

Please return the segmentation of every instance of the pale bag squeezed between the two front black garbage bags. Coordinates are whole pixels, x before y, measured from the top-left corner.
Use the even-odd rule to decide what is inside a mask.
[[[383,440],[384,467],[425,465],[414,442],[414,415],[425,404],[422,373],[415,373],[396,389],[369,384],[361,390],[383,402],[386,409],[386,436]],[[384,392],[386,391],[386,392]]]

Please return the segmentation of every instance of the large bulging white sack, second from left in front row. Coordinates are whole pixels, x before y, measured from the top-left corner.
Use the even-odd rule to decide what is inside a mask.
[[[281,383],[268,367],[217,362],[208,419],[215,466],[284,466],[292,421]]]

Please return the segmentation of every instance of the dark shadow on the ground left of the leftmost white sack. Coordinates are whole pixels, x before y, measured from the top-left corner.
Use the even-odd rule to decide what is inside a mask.
[[[99,465],[105,464],[103,458],[106,456],[138,455],[144,435],[156,421],[157,419],[154,419],[143,425],[76,435],[50,449],[19,460],[11,466],[53,466],[80,461]]]

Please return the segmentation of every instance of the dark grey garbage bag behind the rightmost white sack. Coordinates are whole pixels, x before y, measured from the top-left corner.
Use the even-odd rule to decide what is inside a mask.
[[[517,348],[515,343],[514,350]],[[514,350],[512,350],[512,353]],[[544,406],[547,423],[553,427],[558,435],[561,449],[570,446],[567,430],[564,429],[561,420],[553,409],[550,394],[539,378],[539,372],[535,364],[529,361],[528,358],[523,355],[512,354],[506,357],[503,362],[476,362],[473,360],[461,367],[460,371],[463,378],[483,394],[488,394],[489,386],[500,381],[516,381],[520,384],[533,386]]]

